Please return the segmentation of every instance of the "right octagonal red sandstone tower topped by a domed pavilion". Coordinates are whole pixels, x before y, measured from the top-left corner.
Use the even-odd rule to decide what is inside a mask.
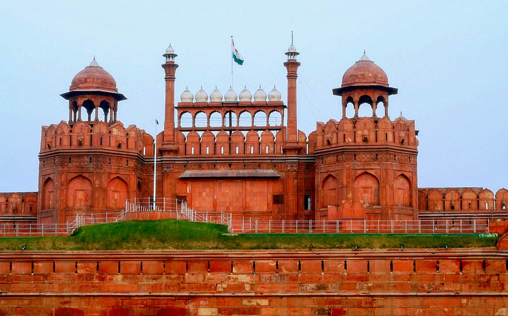
[[[402,115],[390,120],[388,97],[397,89],[364,52],[332,91],[342,97],[342,118],[317,123],[317,214],[341,220],[417,219],[418,131],[415,121]],[[350,106],[354,115],[347,117]],[[365,106],[372,115],[360,117]],[[384,114],[376,114],[380,106]]]

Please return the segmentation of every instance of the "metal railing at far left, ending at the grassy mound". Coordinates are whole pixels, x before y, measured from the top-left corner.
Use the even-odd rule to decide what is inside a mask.
[[[0,224],[2,237],[67,236],[70,232],[69,224]]]

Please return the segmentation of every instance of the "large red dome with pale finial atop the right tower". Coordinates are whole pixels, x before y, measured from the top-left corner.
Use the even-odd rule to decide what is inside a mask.
[[[370,60],[365,52],[342,76],[342,87],[364,85],[389,86],[385,71]]]

